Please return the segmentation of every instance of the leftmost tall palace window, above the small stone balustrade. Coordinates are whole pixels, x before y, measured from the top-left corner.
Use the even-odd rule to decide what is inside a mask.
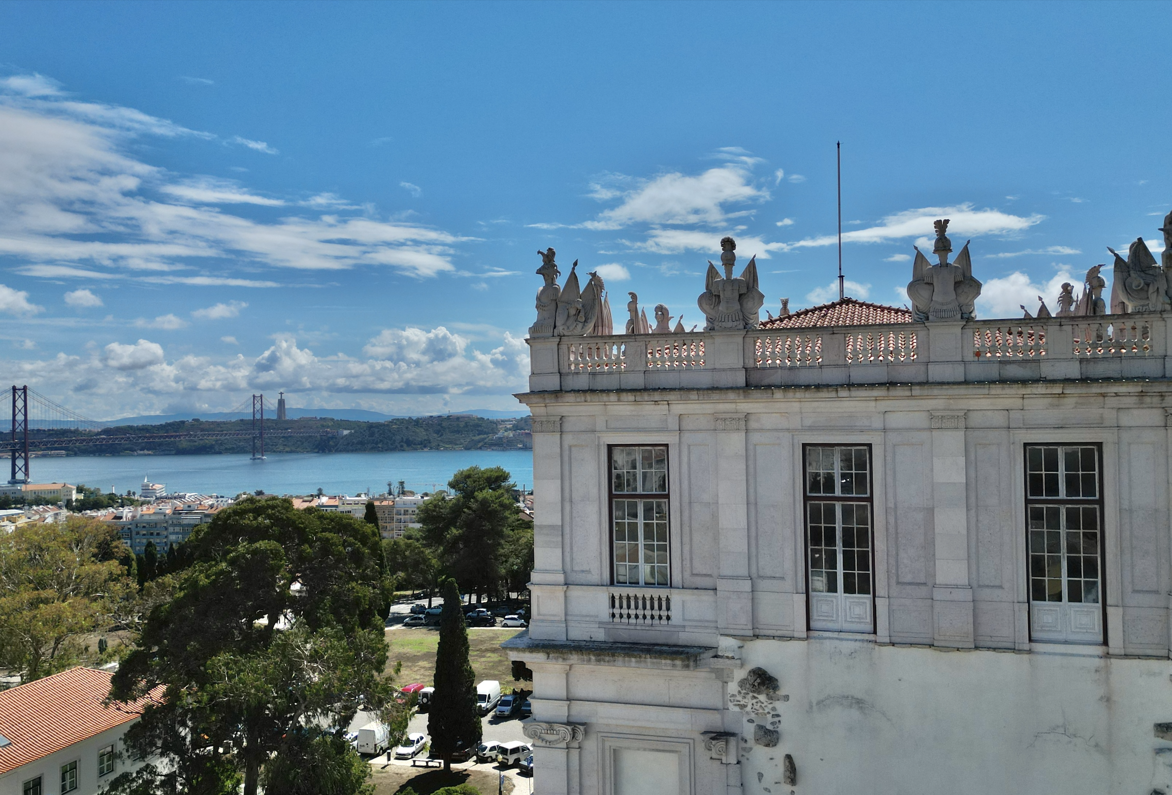
[[[667,448],[611,448],[611,521],[616,585],[670,585]]]

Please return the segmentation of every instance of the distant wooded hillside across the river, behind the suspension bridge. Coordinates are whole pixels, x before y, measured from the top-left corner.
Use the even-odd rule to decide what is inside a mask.
[[[33,429],[32,439],[73,436],[122,436],[127,434],[180,434],[191,432],[250,430],[252,420],[175,420],[163,423],[123,424],[97,433],[68,429]],[[278,430],[327,430],[322,436],[273,436]],[[334,420],[329,417],[265,420],[266,453],[388,453],[398,450],[492,450],[531,447],[530,417],[493,420],[470,414],[428,417],[396,417],[382,422]],[[336,432],[346,432],[339,435]],[[53,449],[53,448],[48,448]],[[161,442],[132,441],[61,447],[69,455],[117,455],[136,450],[166,454],[244,454],[252,449],[251,437],[191,439]]]

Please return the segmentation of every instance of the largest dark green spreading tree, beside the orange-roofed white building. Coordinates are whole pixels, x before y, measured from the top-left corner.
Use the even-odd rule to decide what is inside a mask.
[[[359,704],[393,708],[374,528],[253,497],[188,544],[192,564],[173,576],[173,597],[154,607],[111,688],[116,700],[162,688],[127,733],[131,753],[159,765],[120,776],[111,793],[220,795],[243,781],[255,795],[273,760],[325,748],[307,726],[348,726]],[[315,759],[329,766],[321,781],[350,781],[350,757]]]

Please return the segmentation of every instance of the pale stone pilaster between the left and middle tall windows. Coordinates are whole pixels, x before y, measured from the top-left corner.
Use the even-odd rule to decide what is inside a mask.
[[[752,634],[752,580],[749,578],[749,473],[745,466],[744,414],[717,414],[716,526],[720,566],[716,624],[721,634]]]

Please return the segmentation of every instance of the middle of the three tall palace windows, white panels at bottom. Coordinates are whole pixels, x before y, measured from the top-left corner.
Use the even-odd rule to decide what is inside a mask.
[[[810,628],[873,632],[871,448],[805,448]]]

